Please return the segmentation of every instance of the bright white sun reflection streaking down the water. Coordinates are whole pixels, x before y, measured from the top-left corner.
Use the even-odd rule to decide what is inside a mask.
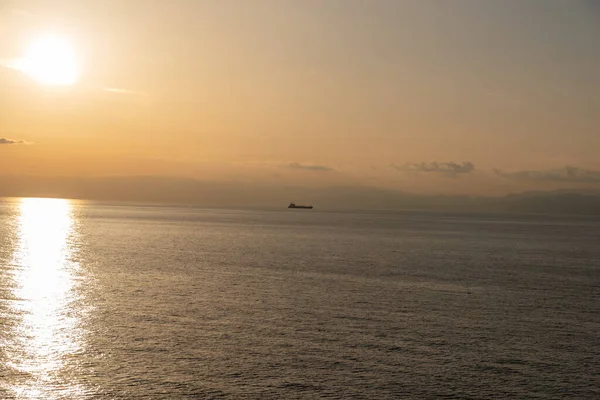
[[[69,357],[83,346],[72,205],[23,199],[16,228],[12,312],[19,318],[5,351],[21,379],[9,390],[23,399],[79,397],[81,388],[65,378]]]

